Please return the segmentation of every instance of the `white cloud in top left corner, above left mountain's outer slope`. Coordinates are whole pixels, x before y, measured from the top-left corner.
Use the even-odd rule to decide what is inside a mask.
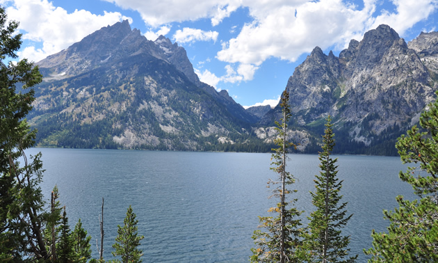
[[[31,61],[40,61],[80,41],[102,26],[127,19],[120,13],[94,15],[86,10],[67,13],[65,9],[55,7],[47,0],[15,0],[3,4],[7,6],[8,19],[19,21],[19,30],[24,40],[42,42],[41,48],[26,47],[18,52],[20,58],[29,58]]]

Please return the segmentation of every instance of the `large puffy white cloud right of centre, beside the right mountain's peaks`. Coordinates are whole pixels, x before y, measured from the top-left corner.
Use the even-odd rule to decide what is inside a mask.
[[[257,15],[245,24],[236,38],[229,40],[217,58],[228,63],[261,65],[270,57],[296,61],[315,46],[345,45],[355,33],[362,35],[371,17],[372,4],[363,10],[346,6],[341,0],[305,2],[278,6]]]

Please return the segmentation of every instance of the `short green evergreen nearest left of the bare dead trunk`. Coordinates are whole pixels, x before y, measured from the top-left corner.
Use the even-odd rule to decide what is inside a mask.
[[[75,253],[75,259],[78,262],[87,262],[91,258],[91,237],[87,236],[87,230],[82,228],[81,218],[74,227],[72,232],[73,250]]]

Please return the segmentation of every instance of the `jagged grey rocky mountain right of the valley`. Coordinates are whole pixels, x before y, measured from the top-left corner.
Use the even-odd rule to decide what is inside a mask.
[[[387,25],[351,40],[334,56],[315,47],[295,68],[286,90],[291,94],[291,124],[321,134],[324,118],[334,117],[341,152],[394,154],[395,139],[419,121],[435,99],[438,34],[421,33],[409,45]],[[279,119],[277,106],[261,120]]]

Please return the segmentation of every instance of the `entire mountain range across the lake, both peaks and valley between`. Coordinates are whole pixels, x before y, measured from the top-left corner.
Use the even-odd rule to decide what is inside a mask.
[[[106,26],[37,63],[28,116],[46,147],[269,151],[281,109],[243,109],[202,83],[184,48],[147,40],[127,21]],[[381,25],[339,57],[319,47],[286,84],[291,141],[318,151],[334,118],[337,152],[394,154],[395,139],[419,120],[438,88],[438,33],[406,43]]]

